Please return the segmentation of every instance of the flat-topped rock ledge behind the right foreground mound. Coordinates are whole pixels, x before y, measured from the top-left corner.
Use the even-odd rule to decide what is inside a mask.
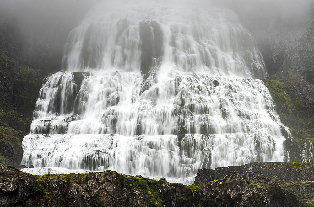
[[[297,199],[312,204],[314,199],[314,164],[293,162],[251,162],[241,166],[218,167],[215,170],[200,169],[195,185],[204,185],[223,179],[231,171],[253,171],[276,180],[280,186]]]

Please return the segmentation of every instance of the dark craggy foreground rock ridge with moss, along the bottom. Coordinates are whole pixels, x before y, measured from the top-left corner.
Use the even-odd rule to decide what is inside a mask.
[[[184,186],[114,171],[33,176],[0,168],[1,206],[305,206],[259,173]]]

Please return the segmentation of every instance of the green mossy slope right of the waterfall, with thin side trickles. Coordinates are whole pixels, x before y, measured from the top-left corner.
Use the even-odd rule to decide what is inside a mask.
[[[294,72],[279,72],[263,81],[282,123],[291,131],[292,137],[283,143],[286,161],[314,162],[314,86]]]

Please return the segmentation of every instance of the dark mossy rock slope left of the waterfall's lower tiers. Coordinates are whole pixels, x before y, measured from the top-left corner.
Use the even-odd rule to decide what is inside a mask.
[[[45,74],[0,56],[0,166],[19,167]],[[23,112],[23,113],[21,113]]]

